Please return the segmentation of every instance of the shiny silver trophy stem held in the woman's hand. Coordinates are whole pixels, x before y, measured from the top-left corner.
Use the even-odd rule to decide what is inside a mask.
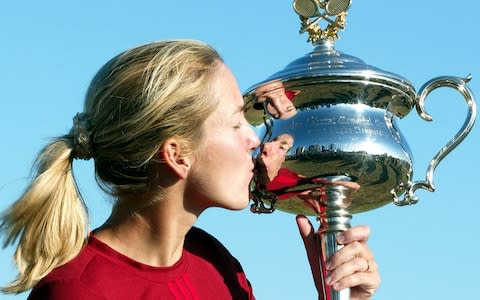
[[[319,247],[322,255],[319,258],[321,274],[321,288],[319,291],[324,300],[348,300],[350,289],[336,291],[327,283],[326,261],[343,245],[337,244],[337,235],[350,228],[352,214],[348,211],[351,204],[351,195],[358,190],[358,184],[351,182],[351,178],[345,175],[329,176],[325,184],[325,194],[320,196],[321,210],[318,215],[320,221]]]

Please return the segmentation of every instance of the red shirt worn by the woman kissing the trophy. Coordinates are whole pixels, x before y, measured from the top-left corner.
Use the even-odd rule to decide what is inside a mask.
[[[214,237],[192,228],[171,267],[137,262],[90,236],[80,254],[32,290],[38,299],[255,299],[240,263]]]

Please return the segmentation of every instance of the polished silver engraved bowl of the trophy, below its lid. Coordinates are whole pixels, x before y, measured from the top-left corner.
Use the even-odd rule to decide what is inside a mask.
[[[394,121],[393,115],[386,114],[385,110],[362,103],[319,105],[313,102],[297,108],[295,118],[272,118],[272,137],[289,134],[294,139],[282,168],[311,179],[278,191],[271,190],[282,199],[276,207],[316,215],[292,192],[315,186],[311,182],[315,177],[332,172],[358,178],[362,188],[350,207],[354,213],[392,201],[390,191],[401,194],[401,183],[408,181],[412,167],[410,149]],[[266,133],[267,126],[256,128],[260,134]]]

